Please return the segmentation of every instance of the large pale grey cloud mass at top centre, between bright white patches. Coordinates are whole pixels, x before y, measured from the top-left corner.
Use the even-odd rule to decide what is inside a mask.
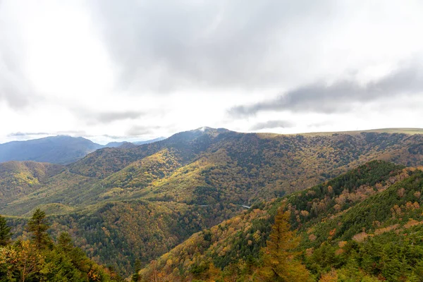
[[[121,70],[119,86],[170,92],[281,85],[292,73],[281,68],[294,57],[287,42],[316,33],[305,23],[329,24],[331,2],[99,0],[90,8]]]

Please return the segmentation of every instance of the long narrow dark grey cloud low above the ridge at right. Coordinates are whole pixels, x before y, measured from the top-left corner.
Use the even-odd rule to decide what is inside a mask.
[[[348,111],[352,103],[391,99],[419,92],[423,92],[422,69],[411,64],[365,85],[355,80],[340,80],[329,85],[317,82],[290,90],[276,99],[235,106],[228,110],[228,114],[239,118],[254,116],[261,111],[333,114]]]

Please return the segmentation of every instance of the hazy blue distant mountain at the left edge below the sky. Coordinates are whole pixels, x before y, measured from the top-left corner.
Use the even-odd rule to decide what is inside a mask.
[[[103,147],[82,137],[54,136],[0,144],[0,162],[39,161],[71,164]]]

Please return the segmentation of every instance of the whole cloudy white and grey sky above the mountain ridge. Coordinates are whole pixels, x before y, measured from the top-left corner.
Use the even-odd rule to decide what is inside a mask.
[[[423,128],[420,0],[0,0],[0,143]]]

